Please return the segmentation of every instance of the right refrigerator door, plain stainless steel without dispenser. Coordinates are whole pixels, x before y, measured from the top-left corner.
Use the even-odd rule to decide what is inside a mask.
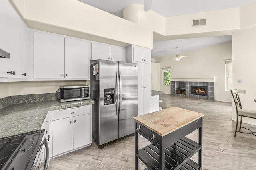
[[[134,133],[134,120],[132,117],[138,115],[137,74],[137,64],[119,62],[119,138]]]

